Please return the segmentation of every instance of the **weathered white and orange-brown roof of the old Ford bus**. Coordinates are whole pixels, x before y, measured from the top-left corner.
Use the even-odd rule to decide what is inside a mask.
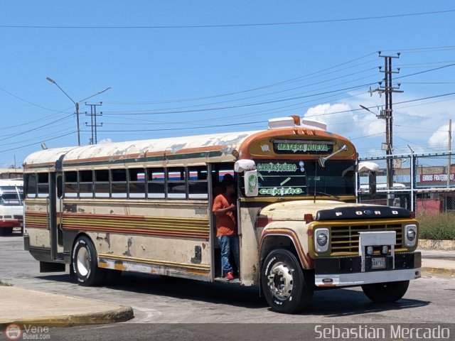
[[[65,169],[70,170],[72,167],[87,167],[88,169],[95,165],[137,167],[138,162],[186,166],[203,164],[208,161],[236,161],[238,158],[273,158],[273,141],[282,138],[284,140],[280,141],[284,142],[337,144],[337,148],[346,144],[349,150],[343,152],[343,155],[340,154],[340,158],[357,158],[355,148],[348,139],[320,129],[296,126],[265,131],[242,131],[45,149],[32,153],[26,158],[24,171],[30,172],[38,168],[43,168],[43,171],[51,170],[59,159],[63,161]],[[334,140],[336,143],[333,142]],[[291,158],[305,158],[297,153],[290,153]]]

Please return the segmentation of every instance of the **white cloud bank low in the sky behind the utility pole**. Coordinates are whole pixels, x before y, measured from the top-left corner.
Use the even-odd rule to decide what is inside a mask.
[[[434,153],[446,151],[448,146],[448,120],[454,99],[433,102],[407,102],[419,98],[400,94],[393,107],[393,146],[395,153]],[[406,102],[398,104],[400,102]],[[385,142],[385,120],[378,119],[384,108],[384,97],[368,93],[352,94],[340,103],[325,103],[309,108],[304,118],[324,121],[327,130],[352,139],[362,156],[384,153],[380,146]],[[360,109],[359,104],[371,112]]]

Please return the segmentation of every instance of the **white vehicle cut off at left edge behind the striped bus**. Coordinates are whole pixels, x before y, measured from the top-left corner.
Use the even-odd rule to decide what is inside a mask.
[[[23,227],[23,181],[0,179],[0,234]]]

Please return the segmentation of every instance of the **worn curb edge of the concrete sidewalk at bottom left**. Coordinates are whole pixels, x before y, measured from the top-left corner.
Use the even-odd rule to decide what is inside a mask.
[[[122,305],[114,310],[100,313],[44,316],[40,318],[23,318],[16,320],[0,320],[0,328],[4,329],[11,323],[20,325],[38,325],[46,327],[74,327],[75,325],[102,325],[107,323],[125,322],[134,318],[132,307]]]

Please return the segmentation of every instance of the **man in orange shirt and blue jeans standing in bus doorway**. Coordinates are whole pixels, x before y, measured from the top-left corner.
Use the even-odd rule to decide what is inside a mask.
[[[239,268],[239,238],[237,235],[237,218],[235,217],[235,180],[230,174],[225,175],[221,183],[222,193],[213,200],[213,214],[216,216],[216,237],[220,242],[223,276],[230,281],[234,279],[229,257],[232,252],[237,271]]]

